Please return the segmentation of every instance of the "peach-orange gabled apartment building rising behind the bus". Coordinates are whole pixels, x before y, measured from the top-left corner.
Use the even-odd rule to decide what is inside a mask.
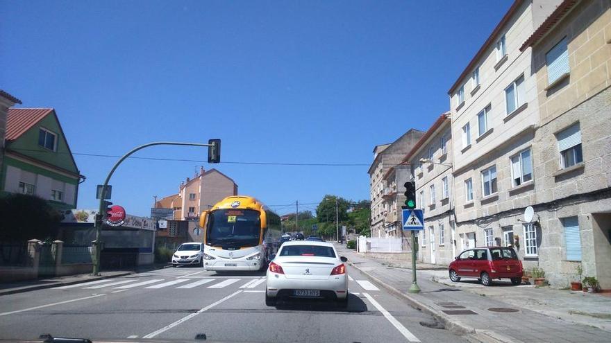
[[[214,168],[200,168],[193,179],[181,182],[178,194],[169,195],[156,203],[156,208],[174,209],[176,220],[196,220],[202,211],[210,209],[225,197],[237,195],[237,184]]]

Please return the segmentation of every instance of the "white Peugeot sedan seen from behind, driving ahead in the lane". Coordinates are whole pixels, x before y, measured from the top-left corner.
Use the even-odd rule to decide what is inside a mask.
[[[348,258],[339,256],[331,243],[296,240],[286,242],[272,255],[267,268],[265,304],[278,298],[333,299],[348,305]]]

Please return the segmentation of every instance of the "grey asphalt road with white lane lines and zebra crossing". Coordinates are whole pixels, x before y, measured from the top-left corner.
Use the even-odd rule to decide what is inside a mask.
[[[349,306],[265,306],[265,274],[178,267],[0,297],[0,339],[55,337],[206,342],[465,342],[348,270]],[[420,323],[428,326],[423,326]]]

